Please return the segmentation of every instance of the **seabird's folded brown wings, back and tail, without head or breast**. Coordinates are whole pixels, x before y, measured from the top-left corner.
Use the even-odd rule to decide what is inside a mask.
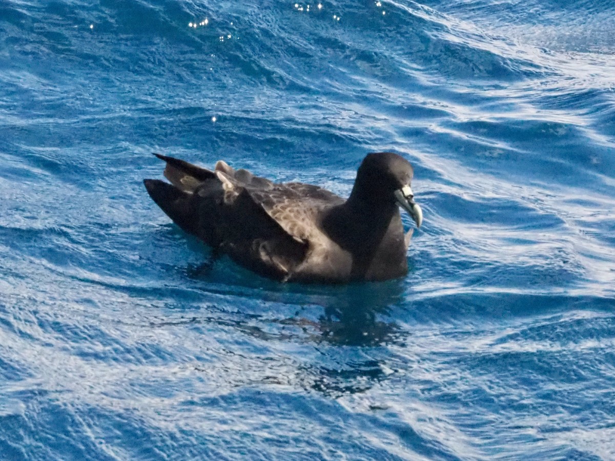
[[[164,175],[171,183],[146,179],[159,207],[186,232],[269,277],[291,277],[312,244],[324,238],[316,225],[319,213],[344,202],[320,187],[272,183],[223,161],[211,171],[156,156],[167,163]]]

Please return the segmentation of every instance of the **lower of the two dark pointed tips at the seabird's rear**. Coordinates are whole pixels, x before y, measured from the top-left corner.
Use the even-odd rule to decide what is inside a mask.
[[[194,200],[191,200],[191,193],[181,191],[159,179],[144,179],[143,184],[156,205],[161,207],[175,224],[189,234],[197,234],[198,213],[195,210]]]

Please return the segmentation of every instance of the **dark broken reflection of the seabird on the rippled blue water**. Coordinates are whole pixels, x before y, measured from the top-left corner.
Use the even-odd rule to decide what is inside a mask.
[[[268,371],[259,382],[296,385],[337,398],[366,392],[391,373],[376,350],[367,356],[356,352],[405,341],[407,330],[390,317],[391,307],[403,304],[404,279],[344,286],[282,285],[254,277],[247,269],[225,263],[224,258],[216,270],[210,269],[208,262],[183,271],[197,282],[199,290],[264,301],[276,312],[258,312],[261,302],[248,301],[239,312],[220,310],[213,316],[212,306],[208,306],[208,317],[201,321],[234,325],[237,331],[259,340],[311,343],[319,351],[308,360],[291,360],[294,365],[290,369],[285,355],[264,361]],[[250,376],[242,379],[254,382]],[[376,402],[370,408],[385,406]]]

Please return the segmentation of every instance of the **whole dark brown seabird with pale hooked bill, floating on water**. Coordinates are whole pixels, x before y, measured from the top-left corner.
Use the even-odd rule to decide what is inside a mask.
[[[416,227],[421,207],[410,188],[413,168],[392,152],[368,154],[347,200],[318,186],[273,183],[220,160],[214,170],[154,154],[164,176],[145,179],[159,207],[215,254],[282,282],[387,280],[408,272],[413,230],[404,233],[399,207]]]

